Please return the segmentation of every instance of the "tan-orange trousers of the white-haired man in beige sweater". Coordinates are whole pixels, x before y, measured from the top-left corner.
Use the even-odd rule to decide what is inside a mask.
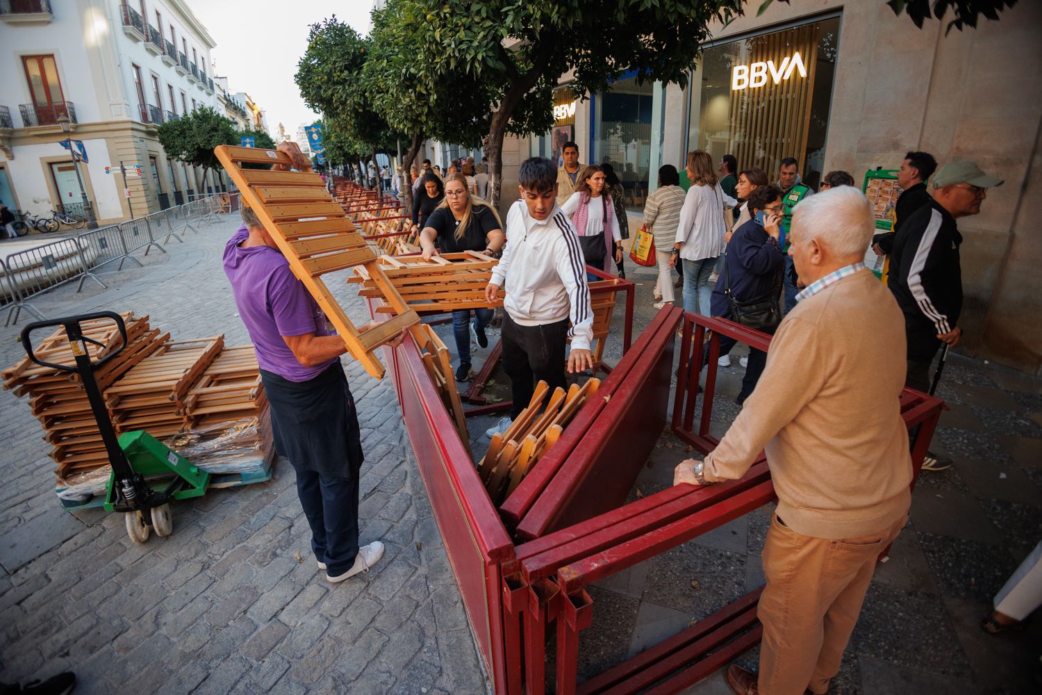
[[[764,543],[767,587],[756,615],[764,625],[759,689],[763,695],[828,692],[879,553],[907,517],[862,538],[801,536],[775,515]]]

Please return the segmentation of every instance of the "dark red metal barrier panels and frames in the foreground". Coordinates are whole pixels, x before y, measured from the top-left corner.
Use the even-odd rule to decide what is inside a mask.
[[[628,475],[634,462],[642,466],[654,445],[653,439],[644,438],[628,445],[625,456],[613,456],[625,446],[622,436],[634,433],[630,426],[632,430],[650,427],[651,421],[661,425],[671,402],[674,433],[708,453],[717,444],[709,424],[719,336],[734,337],[759,349],[769,347],[769,337],[731,322],[684,315],[677,386],[670,394],[668,377],[679,314],[679,309],[667,307],[655,316],[635,349],[628,350],[604,379],[597,397],[584,405],[498,511],[412,339],[393,350],[384,348],[417,464],[497,693],[544,692],[551,629],[556,631],[557,649],[553,680],[556,692],[563,694],[676,692],[761,639],[755,620],[758,590],[581,686],[576,684],[578,638],[591,624],[596,607],[586,592],[591,582],[774,499],[767,463],[761,454],[761,461],[741,480],[708,488],[673,487],[621,504],[619,497],[628,490],[625,483],[631,485]],[[706,337],[704,393],[699,394],[698,368]],[[693,368],[689,367],[692,364]],[[660,402],[654,404],[654,399]],[[702,400],[700,411],[698,399]],[[937,398],[909,390],[901,396],[907,425],[920,425],[913,448],[916,469],[942,405]],[[637,425],[638,421],[643,424]],[[661,430],[661,426],[654,428],[655,439]],[[588,480],[613,472],[625,479],[604,495],[611,499],[576,501],[579,496],[595,496],[590,494],[593,488],[585,487]],[[508,529],[514,527],[520,541],[511,538]]]

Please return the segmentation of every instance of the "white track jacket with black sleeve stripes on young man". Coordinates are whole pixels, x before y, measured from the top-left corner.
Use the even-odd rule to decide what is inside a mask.
[[[537,220],[518,200],[506,214],[505,226],[506,248],[492,271],[492,282],[506,291],[503,308],[522,326],[570,318],[572,349],[589,350],[593,311],[572,221],[556,206],[546,220]]]

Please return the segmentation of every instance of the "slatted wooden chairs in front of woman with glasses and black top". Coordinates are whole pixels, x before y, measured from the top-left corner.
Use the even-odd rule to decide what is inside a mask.
[[[417,312],[491,308],[503,302],[502,290],[495,303],[489,304],[486,300],[485,288],[492,279],[492,269],[499,262],[477,251],[445,253],[430,260],[417,255],[382,255],[378,263],[401,298]],[[363,297],[379,296],[379,289],[364,268],[355,268],[348,282],[361,282],[358,294]],[[390,311],[390,307],[381,306],[376,311]]]

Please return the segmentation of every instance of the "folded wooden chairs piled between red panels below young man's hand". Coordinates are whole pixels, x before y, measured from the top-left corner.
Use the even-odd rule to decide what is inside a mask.
[[[546,381],[536,386],[528,405],[505,432],[497,432],[492,438],[489,450],[478,464],[478,474],[493,504],[499,506],[517,489],[599,387],[600,379],[596,378],[587,380],[581,387],[573,383],[567,392],[559,387],[552,394]]]

